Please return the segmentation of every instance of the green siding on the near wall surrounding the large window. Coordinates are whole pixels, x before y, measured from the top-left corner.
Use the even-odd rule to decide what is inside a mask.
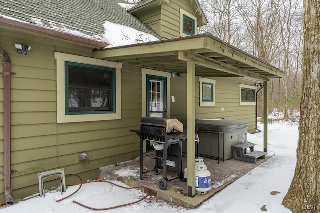
[[[14,43],[27,44],[32,49],[23,56],[14,50]],[[98,177],[99,167],[138,156],[139,139],[129,130],[140,124],[141,87],[132,86],[141,85],[140,68],[122,67],[122,119],[57,123],[54,52],[92,57],[93,47],[1,26],[1,48],[11,59],[11,71],[17,73],[11,77],[11,169],[17,170],[12,173],[11,188],[16,198],[38,191],[39,172],[64,168],[66,174],[92,179]],[[2,72],[2,59],[0,67]],[[0,76],[1,171],[4,169],[3,91],[3,76]],[[81,152],[88,154],[88,161],[79,161]],[[4,185],[2,175],[0,185]],[[1,187],[1,203],[5,202],[3,190]]]

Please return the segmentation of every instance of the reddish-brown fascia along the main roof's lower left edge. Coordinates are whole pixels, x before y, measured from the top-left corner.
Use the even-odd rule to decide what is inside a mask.
[[[73,41],[81,44],[86,44],[89,46],[103,48],[109,45],[109,43],[107,42],[96,41],[96,40],[84,38],[81,36],[76,36],[69,33],[61,32],[58,30],[37,26],[34,24],[26,23],[26,22],[11,20],[11,19],[4,18],[2,16],[0,17],[0,23],[1,25],[4,25],[4,26],[22,29],[25,31],[34,32],[34,33],[38,33],[46,36],[51,36],[51,37],[59,38],[63,40]]]

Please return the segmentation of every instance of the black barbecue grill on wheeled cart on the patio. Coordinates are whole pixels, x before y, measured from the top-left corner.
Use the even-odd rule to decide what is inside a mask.
[[[140,137],[140,180],[143,174],[163,170],[163,178],[159,180],[160,189],[167,188],[167,182],[179,178],[185,181],[184,172],[182,172],[182,141],[187,139],[187,135],[183,133],[183,125],[177,119],[167,118],[141,118],[141,127],[139,130],[130,130]],[[149,171],[143,168],[143,141],[154,141],[163,144],[163,150],[155,152],[155,167]],[[168,179],[166,172],[172,171],[178,174],[177,177]]]

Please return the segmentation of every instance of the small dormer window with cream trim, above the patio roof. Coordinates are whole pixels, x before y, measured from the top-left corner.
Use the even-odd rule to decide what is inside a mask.
[[[180,9],[180,36],[197,34],[197,18]]]

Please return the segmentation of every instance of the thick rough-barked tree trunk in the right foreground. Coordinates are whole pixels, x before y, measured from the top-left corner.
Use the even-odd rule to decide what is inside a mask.
[[[320,1],[304,0],[303,91],[297,162],[282,204],[320,212]]]

